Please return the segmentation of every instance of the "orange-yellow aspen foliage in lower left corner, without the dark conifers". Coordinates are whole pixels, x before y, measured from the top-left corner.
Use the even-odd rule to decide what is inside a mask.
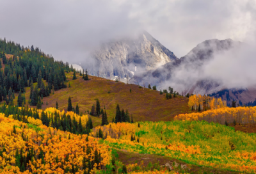
[[[50,110],[55,111],[54,109]],[[80,117],[72,113],[70,113],[70,115],[75,118]],[[100,162],[103,165],[106,166],[111,158],[108,147],[99,145],[99,143],[95,141],[95,138],[91,136],[88,136],[89,141],[87,142],[87,135],[63,132],[40,124],[40,132],[36,132],[35,129],[28,129],[26,123],[13,120],[12,116],[6,118],[2,113],[0,113],[0,120],[0,148],[3,148],[3,145],[5,146],[6,152],[3,152],[3,156],[8,159],[6,161],[5,158],[0,156],[0,168],[4,173],[18,173],[17,168],[13,166],[15,165],[15,152],[17,148],[19,152],[21,148],[24,150],[23,155],[28,154],[28,149],[35,151],[35,157],[32,157],[33,162],[29,162],[29,168],[31,168],[33,172],[38,171],[38,173],[63,173],[63,168],[71,168],[71,164],[78,165],[78,172],[83,173],[83,171],[80,170],[83,165],[83,158],[85,157],[86,160],[92,160],[95,149],[102,154]],[[85,120],[86,116],[84,116],[84,121]],[[36,120],[31,117],[28,117],[28,122],[36,124]],[[15,125],[17,133],[11,136],[13,125]],[[22,132],[26,138],[28,136],[28,141],[24,141]],[[69,134],[71,139],[68,139]],[[90,154],[88,155],[86,154],[87,145],[91,148]],[[38,159],[40,149],[44,152],[45,164],[42,164],[42,159]],[[83,152],[83,149],[85,152]],[[69,161],[65,161],[66,155],[68,155]],[[58,163],[56,162],[57,156]]]

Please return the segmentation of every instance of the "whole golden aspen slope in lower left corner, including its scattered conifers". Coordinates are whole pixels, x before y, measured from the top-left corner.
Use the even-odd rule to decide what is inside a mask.
[[[88,173],[105,168],[111,158],[108,147],[91,136],[29,128],[3,113],[0,137],[0,173]]]

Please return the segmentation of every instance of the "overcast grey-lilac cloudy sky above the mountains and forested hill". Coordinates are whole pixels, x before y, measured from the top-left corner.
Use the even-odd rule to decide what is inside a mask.
[[[207,39],[255,41],[255,0],[0,0],[0,37],[74,63],[145,29],[180,58]]]

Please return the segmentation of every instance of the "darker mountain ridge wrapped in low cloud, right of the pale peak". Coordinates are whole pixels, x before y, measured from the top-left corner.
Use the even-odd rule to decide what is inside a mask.
[[[233,40],[205,40],[186,56],[166,63],[165,65],[148,72],[134,75],[130,83],[140,84],[142,81],[166,88],[173,85],[180,93],[212,93],[221,90],[220,82],[201,77],[205,63],[211,61],[215,54],[221,54],[232,47],[239,45]]]

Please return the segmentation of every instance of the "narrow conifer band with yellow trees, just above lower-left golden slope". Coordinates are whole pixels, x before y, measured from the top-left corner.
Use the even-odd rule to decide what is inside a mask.
[[[6,117],[13,115],[13,119],[24,123],[28,123],[26,116],[31,116],[32,118],[42,120],[43,125],[60,129],[61,131],[72,132],[74,134],[89,134],[90,130],[93,128],[92,118],[89,118],[86,127],[83,127],[81,118],[79,119],[79,122],[77,122],[75,118],[71,118],[70,115],[64,114],[63,116],[60,116],[57,112],[49,114],[45,111],[42,112],[40,118],[38,109],[29,108],[28,105],[27,107],[21,107],[21,109],[19,109],[17,106],[6,107],[4,102],[0,106],[0,113],[4,113]]]

